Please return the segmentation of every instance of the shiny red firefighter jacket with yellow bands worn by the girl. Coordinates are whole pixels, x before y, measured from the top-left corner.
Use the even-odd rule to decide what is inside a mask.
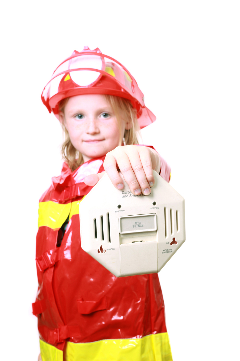
[[[81,248],[78,205],[92,188],[83,180],[88,174],[104,171],[103,161],[104,157],[92,159],[73,172],[64,163],[61,175],[52,178],[51,187],[40,199],[36,243],[39,288],[33,314],[38,317],[43,361],[48,357],[44,356],[47,347],[50,355],[53,347],[57,352],[67,344],[75,347],[99,340],[109,340],[103,359],[112,360],[108,350],[112,350],[114,340],[138,342],[159,334],[164,336],[159,342],[165,351],[159,351],[161,358],[153,352],[153,360],[172,360],[158,274],[117,278]],[[161,171],[169,181],[170,169],[161,161]],[[124,347],[122,350],[124,353]],[[83,351],[79,352],[81,356]],[[140,356],[141,352],[145,351],[140,351]],[[100,360],[100,354],[96,355],[86,360]],[[71,360],[77,359],[74,357]],[[138,359],[132,357],[124,359]],[[61,360],[62,356],[55,358]]]

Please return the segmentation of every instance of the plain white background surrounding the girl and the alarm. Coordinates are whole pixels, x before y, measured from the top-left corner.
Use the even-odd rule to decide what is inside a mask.
[[[36,361],[37,208],[62,131],[40,95],[74,49],[136,78],[142,131],[185,198],[186,242],[160,271],[174,361],[239,360],[239,2],[5,1],[1,5],[1,360]]]

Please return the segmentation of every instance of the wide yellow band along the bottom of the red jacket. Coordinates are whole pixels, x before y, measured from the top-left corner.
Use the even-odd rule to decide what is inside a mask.
[[[40,340],[42,361],[62,361],[60,351]],[[55,353],[54,350],[55,349]],[[55,357],[55,358],[54,358]],[[67,342],[65,361],[172,361],[168,333],[140,339],[112,339],[89,343]]]

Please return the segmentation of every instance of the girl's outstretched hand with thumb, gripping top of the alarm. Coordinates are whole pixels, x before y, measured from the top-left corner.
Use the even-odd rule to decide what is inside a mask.
[[[118,174],[120,170],[133,194],[139,195],[142,192],[149,195],[150,187],[154,185],[153,169],[159,173],[161,163],[158,153],[149,147],[123,145],[107,153],[103,166],[117,189],[124,187]],[[84,179],[85,184],[95,186],[104,173],[88,175]]]

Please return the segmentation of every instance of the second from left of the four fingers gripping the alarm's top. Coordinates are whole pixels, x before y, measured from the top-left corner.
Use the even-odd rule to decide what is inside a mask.
[[[128,184],[130,191],[135,195],[139,195],[142,190],[139,183],[137,182],[127,154],[125,152],[119,152],[119,154],[117,154],[117,160],[118,168],[122,173],[124,181]]]

